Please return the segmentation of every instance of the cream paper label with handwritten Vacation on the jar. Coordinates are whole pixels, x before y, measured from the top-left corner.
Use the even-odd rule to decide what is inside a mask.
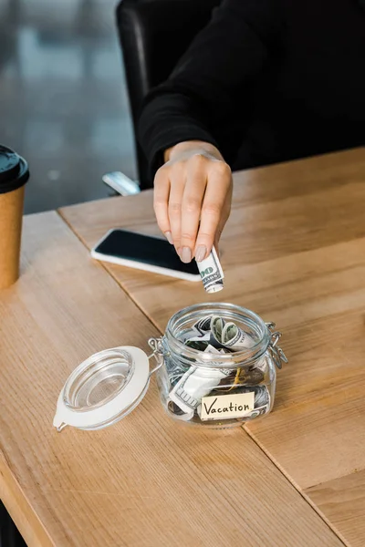
[[[255,393],[202,398],[201,419],[241,418],[255,406]]]

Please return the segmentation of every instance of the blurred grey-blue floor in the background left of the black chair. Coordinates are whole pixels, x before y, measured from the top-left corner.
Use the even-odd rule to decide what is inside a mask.
[[[0,0],[0,143],[28,160],[26,212],[136,177],[116,0]]]

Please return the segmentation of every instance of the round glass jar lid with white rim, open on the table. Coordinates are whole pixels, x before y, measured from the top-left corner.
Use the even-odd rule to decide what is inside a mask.
[[[141,402],[150,384],[148,356],[133,346],[100,351],[81,363],[62,388],[53,425],[106,428]]]

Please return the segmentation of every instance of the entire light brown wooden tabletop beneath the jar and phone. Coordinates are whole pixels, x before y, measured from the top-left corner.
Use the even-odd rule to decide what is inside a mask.
[[[364,179],[364,150],[236,174],[216,295],[89,259],[110,227],[157,232],[151,192],[26,218],[0,294],[0,498],[28,545],[365,544]],[[222,298],[284,333],[270,416],[187,428],[152,382],[111,428],[52,428],[86,356],[147,349],[176,310]]]

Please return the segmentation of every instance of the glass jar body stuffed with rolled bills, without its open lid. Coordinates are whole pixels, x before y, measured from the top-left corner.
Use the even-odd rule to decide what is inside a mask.
[[[196,338],[196,325],[208,325],[214,316],[235,324],[245,335],[245,346],[233,353],[186,346],[186,339]],[[156,373],[169,416],[230,428],[268,414],[274,405],[276,367],[286,361],[276,347],[280,333],[272,332],[274,326],[235,304],[196,304],[173,315],[161,340],[163,363]]]

